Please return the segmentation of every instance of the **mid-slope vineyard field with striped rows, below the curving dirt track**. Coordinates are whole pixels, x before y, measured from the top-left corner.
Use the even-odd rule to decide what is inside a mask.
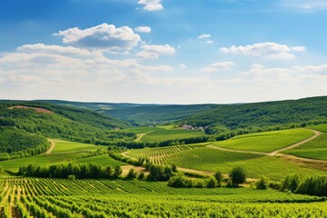
[[[180,145],[163,148],[146,148],[131,150],[127,155],[134,158],[148,157],[154,163],[175,163],[179,167],[210,173],[215,173],[219,170],[227,174],[230,173],[233,167],[242,166],[250,178],[266,176],[276,181],[281,181],[286,174],[297,173],[300,176],[326,174],[326,172],[319,169],[303,167],[288,162],[282,157],[231,153],[205,146],[193,147],[192,145]]]

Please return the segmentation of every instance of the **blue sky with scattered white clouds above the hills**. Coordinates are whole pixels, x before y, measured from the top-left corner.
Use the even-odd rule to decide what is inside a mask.
[[[327,95],[324,0],[0,3],[0,99],[244,103]]]

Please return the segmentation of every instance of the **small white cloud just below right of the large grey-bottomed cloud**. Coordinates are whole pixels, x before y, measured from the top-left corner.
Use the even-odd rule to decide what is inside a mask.
[[[171,45],[142,45],[143,51],[136,54],[136,57],[144,59],[157,59],[160,55],[171,55],[175,48]]]

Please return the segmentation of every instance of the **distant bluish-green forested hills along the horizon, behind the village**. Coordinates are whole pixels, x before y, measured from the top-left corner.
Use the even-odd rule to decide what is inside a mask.
[[[327,122],[327,96],[253,104],[111,104],[44,101],[122,119],[134,125],[192,124],[210,126],[208,134]],[[303,124],[304,125],[304,124]],[[252,131],[250,131],[252,132]],[[255,132],[255,131],[253,131]]]

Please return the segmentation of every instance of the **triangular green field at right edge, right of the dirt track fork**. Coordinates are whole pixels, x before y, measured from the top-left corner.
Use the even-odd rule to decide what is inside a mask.
[[[327,161],[327,134],[321,134],[312,141],[284,153]]]

